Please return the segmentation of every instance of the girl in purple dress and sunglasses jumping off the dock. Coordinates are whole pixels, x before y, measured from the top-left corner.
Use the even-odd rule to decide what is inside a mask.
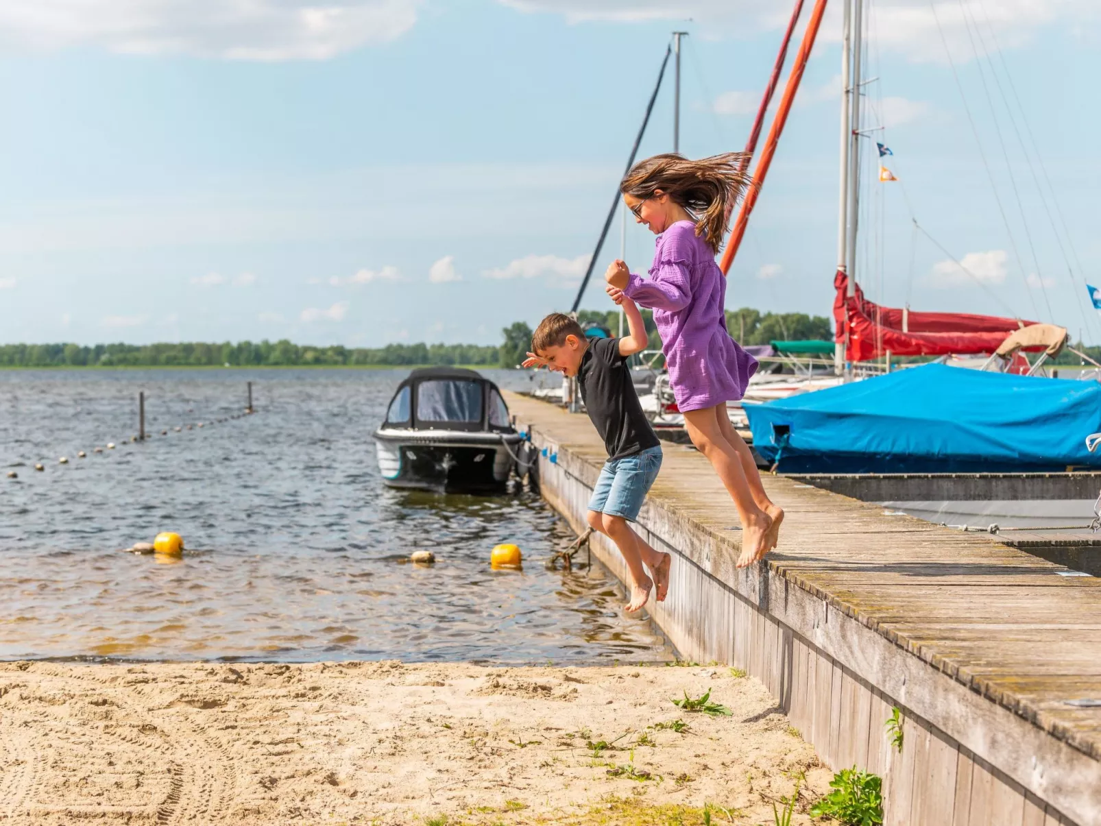
[[[734,500],[742,524],[738,567],[776,546],[784,511],[764,492],[750,448],[727,415],[745,393],[757,362],[727,333],[727,279],[715,257],[730,209],[749,183],[740,153],[689,161],[662,154],[636,163],[620,184],[639,224],[657,236],[650,278],[614,261],[608,294],[652,307],[669,383],[693,444]]]

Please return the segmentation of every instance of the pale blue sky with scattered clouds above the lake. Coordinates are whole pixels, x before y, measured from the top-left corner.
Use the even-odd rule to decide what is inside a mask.
[[[730,308],[830,313],[840,8]],[[783,0],[0,0],[0,343],[495,344],[573,303],[669,33],[688,32],[680,151],[705,156],[744,145],[789,13]],[[1101,278],[1101,9],[868,0],[865,14],[869,297],[1101,343],[1084,286]],[[672,80],[640,157],[673,148]],[[877,181],[875,141],[897,182]],[[611,308],[602,272],[621,244],[644,273],[653,243],[618,213],[582,307]]]

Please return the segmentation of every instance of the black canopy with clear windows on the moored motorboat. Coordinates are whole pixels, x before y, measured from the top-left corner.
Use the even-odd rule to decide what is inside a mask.
[[[511,433],[509,407],[492,381],[458,367],[425,367],[399,384],[384,427]]]

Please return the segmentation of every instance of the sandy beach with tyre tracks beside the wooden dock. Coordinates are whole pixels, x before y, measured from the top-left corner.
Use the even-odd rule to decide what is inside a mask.
[[[11,824],[772,824],[800,773],[805,813],[831,772],[723,666],[0,665]]]

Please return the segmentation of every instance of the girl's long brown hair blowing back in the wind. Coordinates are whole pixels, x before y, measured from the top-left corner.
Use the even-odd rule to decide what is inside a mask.
[[[718,254],[730,213],[751,185],[744,172],[748,166],[745,152],[727,152],[699,161],[668,152],[639,161],[623,177],[620,192],[645,200],[661,189],[688,210],[696,220],[696,235],[702,236]]]

